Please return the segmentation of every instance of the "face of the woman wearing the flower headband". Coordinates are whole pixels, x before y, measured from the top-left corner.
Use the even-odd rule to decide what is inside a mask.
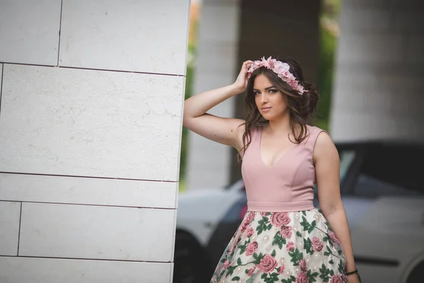
[[[264,74],[254,79],[253,93],[257,108],[266,120],[281,118],[287,112],[285,96]]]

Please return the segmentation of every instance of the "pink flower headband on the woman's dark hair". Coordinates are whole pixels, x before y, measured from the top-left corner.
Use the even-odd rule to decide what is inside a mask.
[[[299,91],[301,95],[305,91],[303,86],[300,86],[299,81],[295,78],[295,76],[293,76],[293,74],[288,71],[290,66],[288,66],[287,63],[277,61],[276,59],[271,59],[271,57],[268,59],[262,57],[260,61],[254,61],[252,65],[250,65],[249,70],[247,70],[247,77],[249,78],[252,76],[253,71],[259,69],[260,67],[266,67],[267,69],[272,70],[278,75],[280,79],[288,83],[296,91]]]

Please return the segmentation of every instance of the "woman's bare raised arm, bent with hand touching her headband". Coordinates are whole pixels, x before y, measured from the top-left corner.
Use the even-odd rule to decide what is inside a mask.
[[[219,103],[245,91],[247,86],[247,70],[251,61],[242,65],[235,83],[223,88],[196,94],[184,102],[183,125],[206,139],[233,146],[239,150],[242,147],[244,127],[239,127],[245,121],[235,118],[217,117],[206,113]]]

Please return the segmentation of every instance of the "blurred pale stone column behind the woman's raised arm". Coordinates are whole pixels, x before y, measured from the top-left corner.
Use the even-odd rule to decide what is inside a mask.
[[[227,86],[235,81],[238,70],[240,2],[202,1],[193,94]],[[234,117],[235,99],[217,105],[210,113],[220,117]],[[228,185],[232,149],[193,132],[187,136],[187,188],[192,190]]]

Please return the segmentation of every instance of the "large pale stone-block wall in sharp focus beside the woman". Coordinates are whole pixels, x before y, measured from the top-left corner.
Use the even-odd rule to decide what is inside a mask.
[[[0,0],[0,282],[172,281],[188,21]]]

